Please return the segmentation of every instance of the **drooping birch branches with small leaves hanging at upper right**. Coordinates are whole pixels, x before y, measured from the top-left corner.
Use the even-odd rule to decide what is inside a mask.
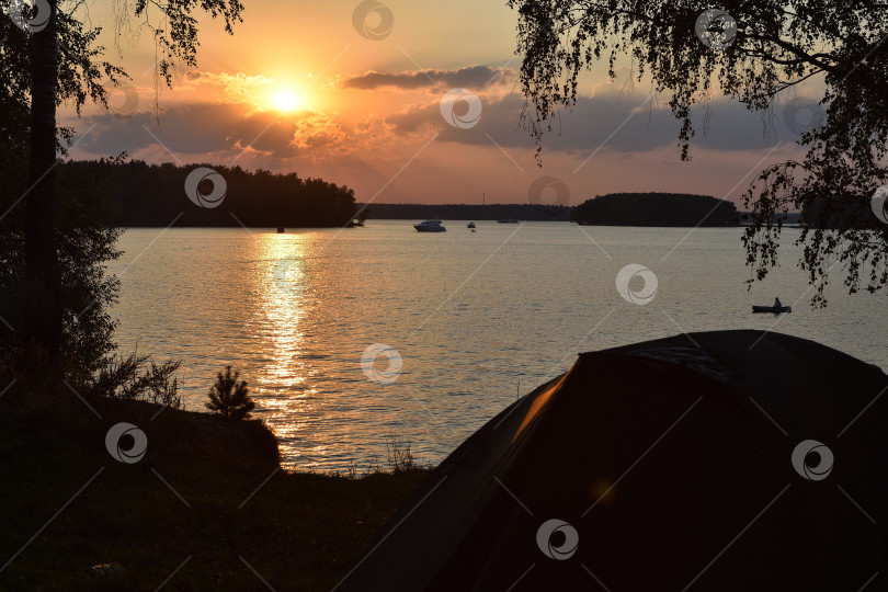
[[[509,0],[509,5],[519,12],[520,79],[527,98],[522,123],[537,140],[537,153],[558,110],[576,104],[580,73],[603,62],[613,79],[621,56],[631,59],[633,78],[650,79],[652,94],[669,94],[682,122],[682,159],[690,158],[692,111],[710,101],[715,89],[752,111],[782,106],[786,118],[794,109],[786,91],[807,80],[821,83],[811,106],[822,117],[810,128],[788,125],[800,133],[806,158],[769,167],[745,195],[752,208],[743,236],[750,282],[777,264],[783,221],[789,212],[802,210],[808,228],[797,241],[804,246],[799,265],[817,287],[815,305],[826,305],[823,288],[834,264],[841,264],[852,293],[888,287],[888,225],[870,209],[875,191],[888,181],[888,44],[883,43],[888,4],[729,0],[722,3],[729,19],[704,18],[699,32],[708,1]],[[725,43],[714,45],[713,35],[725,31],[711,25],[731,20],[736,26],[721,37]],[[823,203],[810,208],[818,200]]]

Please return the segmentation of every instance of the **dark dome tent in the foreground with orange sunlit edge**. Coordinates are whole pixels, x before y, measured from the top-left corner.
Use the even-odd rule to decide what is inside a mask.
[[[337,590],[888,590],[886,388],[761,331],[581,354],[451,454]]]

